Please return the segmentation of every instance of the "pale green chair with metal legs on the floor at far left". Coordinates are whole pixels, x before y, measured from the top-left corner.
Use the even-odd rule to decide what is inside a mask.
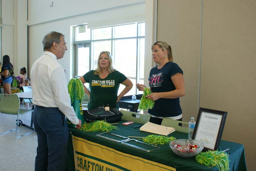
[[[12,129],[12,130],[9,130],[9,131],[6,131],[6,132],[2,132],[0,133],[1,134],[5,134],[7,132],[10,132],[10,131],[14,131],[16,130],[16,138],[19,138],[19,137],[22,137],[24,135],[28,135],[28,134],[31,134],[35,131],[32,131],[32,132],[28,132],[27,134],[24,134],[24,135],[20,135],[20,136],[17,136],[17,129],[18,129],[18,123],[19,123],[19,115],[23,115],[27,112],[32,112],[33,110],[26,110],[26,109],[20,109],[19,108],[19,97],[17,94],[0,94],[0,112],[2,114],[12,114],[12,115],[17,115],[17,123],[16,123],[16,129]],[[22,123],[20,124],[20,126],[22,126]]]

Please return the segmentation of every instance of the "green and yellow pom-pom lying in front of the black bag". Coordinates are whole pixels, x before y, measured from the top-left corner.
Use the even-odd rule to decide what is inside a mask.
[[[95,132],[95,131],[110,132],[113,129],[117,129],[117,127],[103,120],[95,121],[92,123],[84,123],[84,125],[80,128],[80,130],[83,130],[85,132]]]

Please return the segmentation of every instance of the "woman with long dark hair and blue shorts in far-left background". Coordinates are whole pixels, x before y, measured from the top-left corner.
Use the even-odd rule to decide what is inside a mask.
[[[8,55],[3,56],[3,65],[1,68],[1,78],[3,80],[3,92],[4,94],[11,94],[11,83],[13,75],[13,66],[10,62],[10,57]]]

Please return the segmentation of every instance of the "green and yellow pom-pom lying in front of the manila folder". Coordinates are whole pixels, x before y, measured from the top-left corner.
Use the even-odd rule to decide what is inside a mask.
[[[148,135],[144,137],[142,140],[144,143],[148,144],[168,144],[172,140],[176,139],[175,137],[167,137],[162,135]]]

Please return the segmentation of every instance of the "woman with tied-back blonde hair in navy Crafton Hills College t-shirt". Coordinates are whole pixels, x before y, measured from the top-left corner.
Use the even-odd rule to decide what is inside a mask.
[[[182,121],[182,110],[179,97],[185,95],[183,71],[172,62],[171,46],[166,42],[155,42],[151,46],[153,60],[158,65],[150,70],[148,78],[152,93],[147,99],[155,102],[150,122],[161,125],[163,117]],[[136,84],[139,91],[143,91],[145,85]]]

